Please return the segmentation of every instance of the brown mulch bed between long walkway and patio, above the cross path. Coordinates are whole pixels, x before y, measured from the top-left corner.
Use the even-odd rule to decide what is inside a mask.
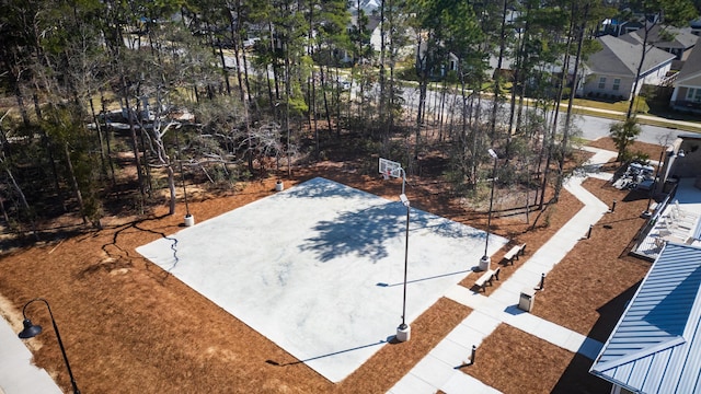
[[[648,262],[628,256],[631,240],[645,223],[641,212],[647,208],[647,194],[619,190],[595,178],[586,179],[584,186],[602,201],[617,200],[616,211],[594,225],[591,237],[582,240],[548,275],[533,313],[606,341],[616,321],[600,320],[620,316],[650,268]]]

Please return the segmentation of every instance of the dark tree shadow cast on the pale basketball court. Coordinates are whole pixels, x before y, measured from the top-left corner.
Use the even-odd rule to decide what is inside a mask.
[[[411,208],[410,244],[412,234],[425,229],[440,236],[484,239],[484,232],[476,229]],[[401,242],[404,242],[406,207],[400,201],[390,201],[365,209],[341,211],[334,220],[322,220],[312,230],[318,235],[306,239],[299,247],[317,252],[321,262],[357,255],[375,263],[388,256],[390,240],[401,237]]]

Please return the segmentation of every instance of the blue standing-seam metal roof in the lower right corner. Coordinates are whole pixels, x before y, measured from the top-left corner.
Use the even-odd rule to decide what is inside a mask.
[[[589,372],[633,392],[701,391],[701,247],[668,243]]]

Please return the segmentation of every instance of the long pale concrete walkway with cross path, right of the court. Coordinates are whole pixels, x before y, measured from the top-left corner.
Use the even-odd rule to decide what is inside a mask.
[[[456,286],[446,297],[470,306],[470,313],[450,334],[444,338],[424,359],[422,359],[388,393],[391,394],[433,394],[438,390],[451,393],[498,393],[479,380],[456,369],[468,361],[472,346],[479,347],[482,340],[502,323],[535,335],[572,352],[596,358],[602,344],[587,338],[565,327],[559,326],[517,308],[524,289],[535,289],[540,285],[541,276],[550,270],[586,236],[589,225],[598,222],[609,207],[582,187],[589,175],[598,174],[599,165],[616,157],[616,152],[595,148],[585,148],[594,152],[587,173],[572,177],[565,188],[576,196],[585,207],[542,245],[508,280],[501,283],[490,297],[475,293],[462,286]],[[608,174],[610,175],[610,174]],[[533,302],[537,302],[537,294]],[[547,336],[544,335],[547,333]]]

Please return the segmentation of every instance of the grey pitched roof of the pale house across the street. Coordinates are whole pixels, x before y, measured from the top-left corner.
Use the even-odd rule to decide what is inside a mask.
[[[600,36],[597,40],[604,48],[589,56],[587,60],[587,66],[594,73],[635,78],[643,50],[641,44],[628,43],[610,35]],[[651,48],[645,55],[641,76],[670,62],[674,58],[669,53]]]

